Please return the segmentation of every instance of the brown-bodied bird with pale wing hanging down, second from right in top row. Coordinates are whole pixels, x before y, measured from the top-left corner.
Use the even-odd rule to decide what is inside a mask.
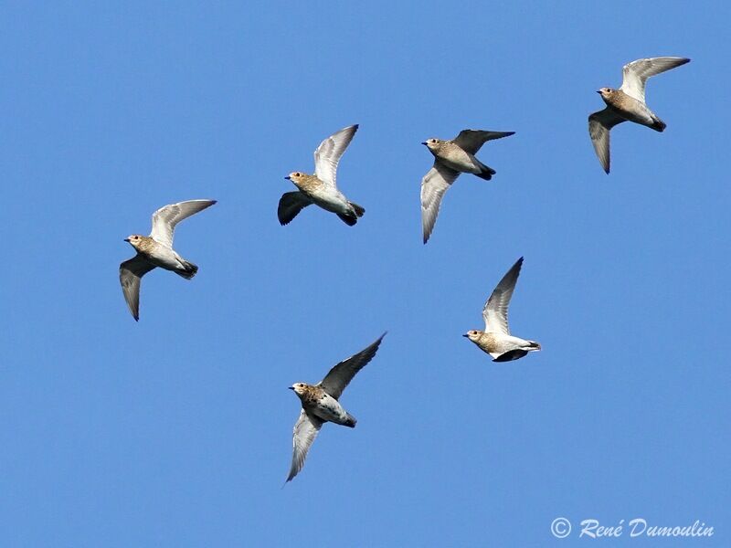
[[[427,145],[429,152],[434,154],[434,165],[421,179],[421,227],[425,244],[429,241],[431,231],[437,222],[441,198],[450,184],[454,183],[460,174],[474,174],[485,181],[490,181],[495,170],[480,162],[474,155],[485,142],[502,139],[514,133],[462,130],[451,141],[432,138],[421,143]]]

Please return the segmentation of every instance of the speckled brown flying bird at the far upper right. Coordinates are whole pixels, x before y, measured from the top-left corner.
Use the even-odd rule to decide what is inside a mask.
[[[663,132],[666,124],[645,103],[647,79],[665,70],[680,67],[689,58],[637,59],[622,68],[622,85],[619,90],[602,88],[597,93],[607,103],[603,111],[588,117],[588,134],[599,157],[599,163],[609,174],[609,130],[623,121],[634,121],[656,132]]]

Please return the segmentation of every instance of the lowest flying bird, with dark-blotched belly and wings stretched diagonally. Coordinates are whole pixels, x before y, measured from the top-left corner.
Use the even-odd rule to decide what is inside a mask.
[[[324,423],[333,422],[344,427],[355,427],[355,416],[345,411],[338,400],[355,374],[376,355],[378,345],[385,336],[386,333],[382,334],[364,350],[335,365],[317,385],[295,383],[290,386],[302,400],[302,412],[292,434],[293,452],[287,481],[291,481],[304,466],[307,452]]]

